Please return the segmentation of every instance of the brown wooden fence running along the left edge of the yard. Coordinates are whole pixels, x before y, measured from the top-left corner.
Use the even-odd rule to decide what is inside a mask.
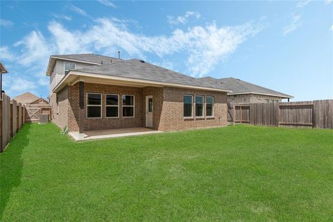
[[[17,101],[10,101],[10,97],[2,94],[0,100],[0,152],[2,152],[10,138],[22,128],[24,124],[24,107]]]

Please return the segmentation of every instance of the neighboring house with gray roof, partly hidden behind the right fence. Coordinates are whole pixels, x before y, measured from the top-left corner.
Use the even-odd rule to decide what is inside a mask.
[[[291,99],[293,96],[276,92],[272,89],[267,89],[259,85],[245,82],[238,78],[201,78],[209,83],[220,84],[223,87],[231,89],[228,92],[228,102],[233,103],[269,103],[281,102],[282,99]]]

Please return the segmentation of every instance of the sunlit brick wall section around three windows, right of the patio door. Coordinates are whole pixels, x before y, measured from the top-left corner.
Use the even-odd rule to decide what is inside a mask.
[[[200,117],[185,119],[183,117],[183,94],[214,96],[214,118]],[[164,87],[164,102],[159,130],[185,130],[190,128],[209,128],[227,125],[227,94],[194,89]],[[195,97],[194,108],[195,112]]]

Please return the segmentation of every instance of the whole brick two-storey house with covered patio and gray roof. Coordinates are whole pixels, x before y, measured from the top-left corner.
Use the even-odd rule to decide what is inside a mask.
[[[94,54],[51,56],[53,121],[69,131],[148,127],[182,130],[227,125],[227,92],[149,64]]]

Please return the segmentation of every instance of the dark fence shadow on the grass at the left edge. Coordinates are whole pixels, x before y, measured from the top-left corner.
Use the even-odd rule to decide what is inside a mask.
[[[31,123],[26,123],[0,154],[0,220],[13,188],[19,186],[22,176],[22,153],[28,145]]]

